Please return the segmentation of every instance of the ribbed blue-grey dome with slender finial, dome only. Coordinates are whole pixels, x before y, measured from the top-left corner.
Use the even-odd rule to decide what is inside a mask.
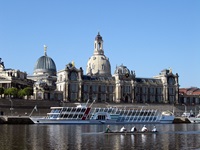
[[[37,62],[35,63],[34,67],[34,75],[36,74],[48,74],[48,75],[56,75],[56,65],[52,58],[46,55],[41,56]]]

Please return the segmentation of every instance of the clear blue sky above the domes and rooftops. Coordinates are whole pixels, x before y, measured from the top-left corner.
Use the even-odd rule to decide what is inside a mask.
[[[199,0],[0,1],[5,68],[32,75],[47,45],[57,71],[74,61],[85,74],[98,32],[112,74],[121,64],[144,78],[171,68],[180,88],[200,88]]]

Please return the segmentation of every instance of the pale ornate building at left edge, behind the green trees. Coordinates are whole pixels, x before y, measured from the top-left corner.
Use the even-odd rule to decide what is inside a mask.
[[[15,69],[6,69],[4,62],[0,58],[0,87],[23,89],[27,86],[32,87],[33,82],[27,79],[27,73]]]

